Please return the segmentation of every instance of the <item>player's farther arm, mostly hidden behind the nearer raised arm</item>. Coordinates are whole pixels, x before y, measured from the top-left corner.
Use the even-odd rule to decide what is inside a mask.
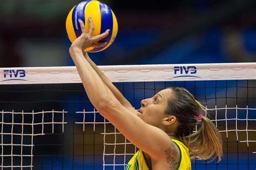
[[[109,78],[105,76],[105,74],[99,69],[99,67],[91,60],[87,52],[84,52],[85,59],[90,63],[90,65],[93,67],[93,69],[97,72],[99,77],[103,80],[105,85],[109,87],[111,92],[114,94],[114,97],[117,98],[117,100],[128,110],[133,112],[134,114],[137,114],[138,112],[132,107],[130,102],[123,96],[123,94],[117,89],[116,86],[113,85],[113,83],[110,81]]]

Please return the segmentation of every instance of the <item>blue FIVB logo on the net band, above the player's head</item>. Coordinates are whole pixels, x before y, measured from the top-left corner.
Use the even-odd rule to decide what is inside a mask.
[[[177,77],[196,77],[200,78],[197,76],[193,76],[191,74],[196,74],[197,73],[197,67],[196,66],[174,66],[174,74],[181,74],[180,76]]]

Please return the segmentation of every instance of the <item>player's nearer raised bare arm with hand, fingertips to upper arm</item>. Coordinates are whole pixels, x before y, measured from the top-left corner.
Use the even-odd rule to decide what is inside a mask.
[[[83,26],[83,22],[79,21]],[[171,139],[157,127],[146,124],[137,115],[127,110],[113,95],[109,87],[99,77],[90,63],[83,56],[83,49],[93,46],[95,42],[104,38],[106,34],[92,37],[93,25],[90,21],[90,31],[78,37],[70,47],[70,55],[75,63],[84,89],[91,103],[97,111],[109,120],[138,148],[151,155],[151,158],[163,158],[166,148],[170,147]],[[96,45],[100,45],[96,43]],[[104,45],[104,44],[102,44]]]

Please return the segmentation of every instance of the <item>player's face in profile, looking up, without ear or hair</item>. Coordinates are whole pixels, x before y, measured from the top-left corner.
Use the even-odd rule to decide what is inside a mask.
[[[142,100],[138,116],[147,124],[160,128],[163,118],[166,117],[165,108],[171,94],[171,89],[165,89],[158,92],[152,98]]]

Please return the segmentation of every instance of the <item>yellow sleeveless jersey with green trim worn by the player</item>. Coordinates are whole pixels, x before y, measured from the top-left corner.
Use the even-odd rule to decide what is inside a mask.
[[[188,148],[180,141],[172,139],[180,151],[180,159],[177,170],[191,170],[190,154]],[[147,164],[143,151],[139,150],[133,155],[132,159],[128,162],[126,170],[150,170],[150,166]]]

